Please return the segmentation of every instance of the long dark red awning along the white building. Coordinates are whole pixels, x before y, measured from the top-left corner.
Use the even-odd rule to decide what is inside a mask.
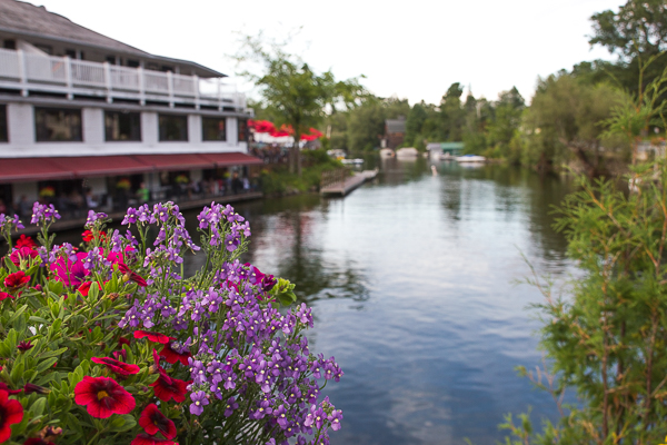
[[[259,164],[242,152],[0,158],[0,184]]]

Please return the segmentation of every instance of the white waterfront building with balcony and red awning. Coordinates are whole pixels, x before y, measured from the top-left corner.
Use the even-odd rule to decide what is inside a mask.
[[[247,155],[246,98],[225,77],[0,0],[0,199],[91,190],[118,208],[119,182],[158,199],[177,176],[242,176],[261,161]]]

